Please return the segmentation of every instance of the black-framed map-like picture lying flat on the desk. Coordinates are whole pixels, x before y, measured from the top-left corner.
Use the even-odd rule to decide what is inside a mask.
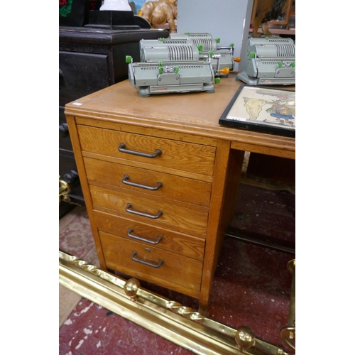
[[[296,92],[241,84],[219,124],[281,136],[296,136]]]

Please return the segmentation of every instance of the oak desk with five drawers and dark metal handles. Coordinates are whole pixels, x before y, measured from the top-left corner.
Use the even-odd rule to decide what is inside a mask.
[[[295,159],[295,138],[220,126],[241,82],[139,97],[128,80],[65,106],[99,262],[207,310],[244,152]]]

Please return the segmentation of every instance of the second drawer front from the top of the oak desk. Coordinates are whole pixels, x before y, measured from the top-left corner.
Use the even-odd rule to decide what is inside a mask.
[[[89,183],[100,182],[153,196],[165,197],[170,200],[209,207],[212,188],[212,184],[209,182],[134,168],[129,165],[109,163],[93,158],[84,158],[84,163]]]

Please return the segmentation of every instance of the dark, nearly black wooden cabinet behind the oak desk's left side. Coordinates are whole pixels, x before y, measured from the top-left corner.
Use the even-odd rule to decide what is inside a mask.
[[[64,114],[65,104],[128,78],[126,55],[139,60],[141,39],[167,38],[167,30],[59,27],[59,175],[70,185],[70,202],[84,205]]]

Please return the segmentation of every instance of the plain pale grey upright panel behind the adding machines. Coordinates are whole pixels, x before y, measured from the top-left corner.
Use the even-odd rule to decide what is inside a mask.
[[[178,33],[211,33],[221,45],[234,43],[234,58],[246,47],[253,0],[178,0]],[[234,70],[241,70],[235,63]]]

